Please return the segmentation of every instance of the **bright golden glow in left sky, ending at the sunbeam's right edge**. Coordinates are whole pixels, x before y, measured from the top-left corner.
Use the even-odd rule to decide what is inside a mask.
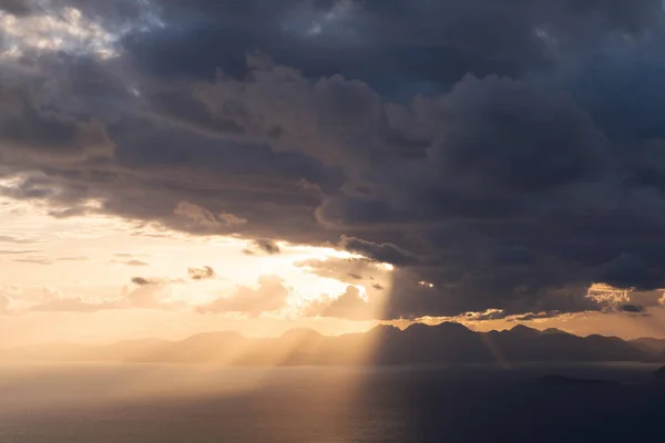
[[[11,190],[18,184],[19,179],[3,179],[0,187]],[[183,323],[192,330],[180,332],[184,336],[195,333],[201,322],[224,330],[243,321],[264,322],[267,334],[313,321],[327,331],[339,324],[339,332],[345,332],[351,327],[347,320],[313,311],[310,303],[337,300],[352,287],[359,298],[354,306],[370,320],[380,318],[377,310],[389,296],[391,266],[331,246],[277,241],[280,254],[248,255],[249,239],[194,236],[122,219],[103,214],[96,200],[78,209],[0,197],[0,309],[6,315],[17,319],[29,313],[66,315],[75,323],[86,316],[130,318],[129,312],[141,310],[142,324],[150,328],[145,316],[157,321],[168,312],[187,318]],[[361,268],[352,271],[356,266]],[[277,326],[279,321],[284,324]],[[71,339],[64,324],[43,319],[37,324],[54,328],[48,331],[44,326],[44,338]],[[98,340],[123,338],[125,328],[126,322],[114,320],[96,329],[103,331]]]

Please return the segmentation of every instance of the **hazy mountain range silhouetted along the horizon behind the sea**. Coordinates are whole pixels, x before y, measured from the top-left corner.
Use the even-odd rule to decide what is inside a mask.
[[[228,365],[448,364],[511,362],[663,362],[665,339],[625,341],[577,337],[559,329],[516,326],[475,332],[460,323],[379,326],[368,332],[323,336],[290,330],[278,338],[206,332],[181,341],[157,339],[103,346],[48,343],[0,351],[12,360],[215,363]]]

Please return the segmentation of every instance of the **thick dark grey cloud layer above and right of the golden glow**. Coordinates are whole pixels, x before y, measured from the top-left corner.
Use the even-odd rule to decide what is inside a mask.
[[[35,4],[0,2],[2,194],[334,243],[396,266],[385,318],[658,305],[658,0]]]

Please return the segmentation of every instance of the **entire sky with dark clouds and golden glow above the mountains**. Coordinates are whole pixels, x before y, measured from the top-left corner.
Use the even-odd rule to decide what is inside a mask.
[[[661,0],[0,0],[0,346],[665,337]]]

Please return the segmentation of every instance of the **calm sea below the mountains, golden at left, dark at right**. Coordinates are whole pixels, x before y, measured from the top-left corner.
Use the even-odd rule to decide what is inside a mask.
[[[0,442],[665,442],[656,369],[0,364]]]

